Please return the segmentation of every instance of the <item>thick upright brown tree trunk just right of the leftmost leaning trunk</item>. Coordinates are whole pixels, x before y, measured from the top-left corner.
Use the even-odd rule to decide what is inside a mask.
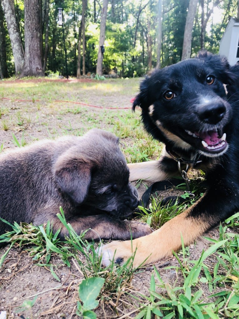
[[[43,76],[42,26],[39,0],[24,1],[25,60],[21,77]]]

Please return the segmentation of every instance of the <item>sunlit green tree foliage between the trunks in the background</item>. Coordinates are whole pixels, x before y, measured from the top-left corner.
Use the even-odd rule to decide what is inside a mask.
[[[43,2],[44,4],[44,2]],[[101,3],[89,0],[86,10],[86,72],[96,72],[98,55],[98,42],[100,31]],[[169,65],[181,60],[183,36],[189,0],[163,2],[162,19],[162,52],[161,65]],[[212,7],[211,0],[204,1],[204,11]],[[95,7],[94,7],[95,6]],[[158,0],[136,1],[122,0],[108,4],[106,31],[105,31],[105,53],[103,70],[108,74],[112,70],[122,77],[141,77],[148,71],[148,35],[152,38],[152,63],[156,67],[157,60],[157,26],[158,26]],[[192,36],[192,56],[197,54],[201,48],[201,3],[198,5],[194,21]],[[63,45],[62,27],[58,26],[58,7],[63,8],[63,23],[65,32],[65,45],[67,49],[68,73],[76,76],[77,50],[79,41],[79,28],[81,23],[82,3],[72,0],[52,1],[50,0],[49,11],[49,50],[47,60],[47,74],[59,73],[66,75],[65,52]],[[94,12],[95,8],[95,12]],[[142,10],[143,8],[143,10]],[[218,53],[219,41],[228,24],[229,18],[235,16],[237,1],[221,1],[217,8],[220,10],[221,21],[207,22],[205,35],[205,48]],[[44,9],[44,7],[43,7]],[[24,43],[24,1],[15,4],[18,26],[21,39]],[[44,10],[43,10],[44,12]],[[139,19],[137,20],[138,13]],[[150,28],[148,21],[150,21]],[[4,24],[5,47],[7,52],[7,66],[10,76],[14,75],[14,60],[11,50],[11,42]],[[43,15],[43,43],[46,38],[46,24]],[[81,48],[82,53],[82,48]],[[81,61],[82,70],[82,61]]]

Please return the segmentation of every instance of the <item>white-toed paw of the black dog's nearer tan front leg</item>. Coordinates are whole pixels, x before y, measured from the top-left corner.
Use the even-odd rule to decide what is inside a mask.
[[[131,241],[112,241],[109,244],[103,245],[99,248],[98,254],[102,254],[102,265],[107,267],[112,260],[116,264],[124,264],[131,256],[133,251]]]

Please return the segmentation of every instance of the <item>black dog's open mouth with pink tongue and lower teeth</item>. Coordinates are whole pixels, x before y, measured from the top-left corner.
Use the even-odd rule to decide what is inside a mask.
[[[203,152],[218,154],[225,151],[228,146],[226,133],[222,133],[222,129],[208,130],[205,132],[185,130],[185,132],[187,133],[189,140],[197,145]]]

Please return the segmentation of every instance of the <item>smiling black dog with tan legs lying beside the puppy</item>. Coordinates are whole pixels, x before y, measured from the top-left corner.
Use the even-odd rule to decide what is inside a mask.
[[[236,83],[237,84],[233,84]],[[191,208],[133,243],[103,246],[103,261],[134,265],[170,256],[239,209],[239,67],[224,57],[199,53],[146,77],[133,109],[140,106],[146,130],[166,145],[159,161],[130,164],[130,180],[164,180],[186,165],[206,172],[208,190]],[[148,257],[148,259],[147,259]],[[146,260],[146,262],[145,262]]]

